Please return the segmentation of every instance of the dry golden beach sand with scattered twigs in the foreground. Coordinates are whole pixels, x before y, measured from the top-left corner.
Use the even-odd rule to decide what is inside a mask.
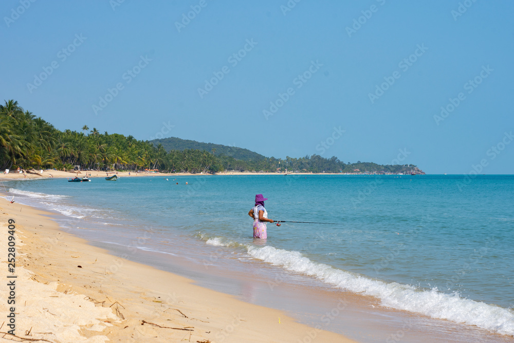
[[[23,176],[22,176],[23,177]],[[28,176],[27,176],[28,177]],[[237,300],[189,279],[123,260],[88,245],[49,213],[0,200],[0,244],[7,259],[14,220],[15,273],[0,273],[2,340],[51,342],[351,342],[284,313]],[[17,278],[7,278],[15,275]],[[8,281],[15,304],[8,305]],[[5,335],[14,306],[15,335]]]

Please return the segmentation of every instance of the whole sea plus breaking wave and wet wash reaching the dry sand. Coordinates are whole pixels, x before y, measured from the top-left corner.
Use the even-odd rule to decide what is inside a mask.
[[[9,200],[50,211],[63,229],[113,255],[313,328],[362,342],[514,341],[514,175],[3,184]],[[268,218],[286,221],[268,223],[266,240],[253,239],[248,215],[260,193]],[[315,338],[316,330],[299,341]]]

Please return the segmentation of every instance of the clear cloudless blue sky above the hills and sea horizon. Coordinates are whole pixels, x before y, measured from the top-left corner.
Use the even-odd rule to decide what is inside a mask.
[[[346,163],[390,164],[401,149],[402,164],[427,173],[469,173],[483,160],[481,173],[513,173],[513,2],[113,4],[2,1],[0,100],[60,130],[164,132]],[[223,79],[204,88],[214,73]],[[460,103],[434,118],[452,110],[450,98]],[[270,102],[281,107],[266,118]]]

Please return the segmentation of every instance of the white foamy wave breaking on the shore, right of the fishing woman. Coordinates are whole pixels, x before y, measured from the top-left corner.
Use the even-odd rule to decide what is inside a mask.
[[[219,237],[210,238],[206,243],[217,246],[237,245]],[[245,247],[248,254],[255,259],[280,266],[291,272],[315,277],[341,290],[376,297],[384,307],[474,325],[491,332],[514,336],[514,312],[510,309],[462,298],[457,293],[442,293],[435,287],[424,290],[411,285],[374,280],[314,262],[299,251],[277,249],[272,246],[245,245]]]

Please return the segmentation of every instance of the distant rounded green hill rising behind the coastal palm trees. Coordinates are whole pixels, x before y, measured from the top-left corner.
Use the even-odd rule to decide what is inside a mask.
[[[153,143],[155,147],[159,145],[159,143],[162,145],[166,151],[171,150],[187,150],[187,149],[194,149],[194,150],[206,150],[208,152],[213,152],[215,156],[227,156],[227,157],[233,157],[234,159],[240,159],[243,161],[258,161],[266,159],[265,156],[258,154],[256,152],[250,151],[248,149],[243,148],[237,148],[237,147],[229,147],[224,146],[221,144],[214,144],[214,143],[204,143],[204,142],[198,142],[196,140],[190,140],[190,139],[181,139],[177,137],[169,137],[169,138],[162,138],[162,139],[154,139],[150,141]]]

